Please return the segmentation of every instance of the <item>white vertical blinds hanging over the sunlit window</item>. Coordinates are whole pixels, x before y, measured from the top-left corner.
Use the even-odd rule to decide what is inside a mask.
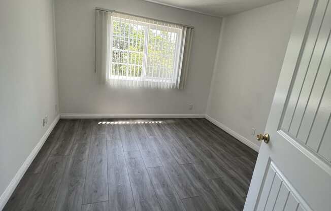
[[[95,71],[112,87],[184,89],[192,28],[96,10]]]

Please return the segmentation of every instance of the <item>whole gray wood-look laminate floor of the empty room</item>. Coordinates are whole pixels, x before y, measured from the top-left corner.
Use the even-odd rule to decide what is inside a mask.
[[[206,119],[60,120],[4,210],[242,210],[256,157]]]

